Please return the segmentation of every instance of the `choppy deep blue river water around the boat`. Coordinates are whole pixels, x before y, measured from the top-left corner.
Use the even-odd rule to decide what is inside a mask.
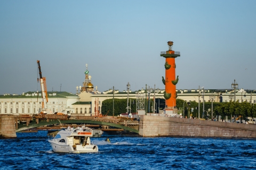
[[[173,137],[91,138],[98,153],[58,154],[47,131],[0,140],[0,169],[255,169],[256,140]]]

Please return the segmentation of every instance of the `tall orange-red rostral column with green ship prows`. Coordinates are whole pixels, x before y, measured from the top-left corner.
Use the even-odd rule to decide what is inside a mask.
[[[176,107],[176,84],[179,81],[179,75],[175,76],[175,58],[180,56],[180,52],[174,52],[172,50],[173,41],[168,41],[167,45],[169,50],[161,52],[160,56],[165,57],[165,78],[162,77],[162,81],[165,84],[165,114],[177,114]]]

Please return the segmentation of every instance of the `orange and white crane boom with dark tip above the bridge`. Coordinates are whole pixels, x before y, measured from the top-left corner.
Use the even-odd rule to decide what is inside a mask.
[[[45,79],[45,77],[42,77],[41,66],[40,66],[39,60],[37,60],[37,64],[38,64],[38,69],[39,69],[40,84],[41,84],[42,99],[43,99],[42,110],[39,110],[39,113],[42,113],[42,112],[46,113],[46,111],[47,111],[47,102],[48,102],[46,79]]]

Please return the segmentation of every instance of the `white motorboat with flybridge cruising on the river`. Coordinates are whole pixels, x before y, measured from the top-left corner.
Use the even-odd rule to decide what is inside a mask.
[[[54,152],[98,152],[98,146],[90,140],[93,131],[85,126],[62,129],[55,137],[48,137]]]

